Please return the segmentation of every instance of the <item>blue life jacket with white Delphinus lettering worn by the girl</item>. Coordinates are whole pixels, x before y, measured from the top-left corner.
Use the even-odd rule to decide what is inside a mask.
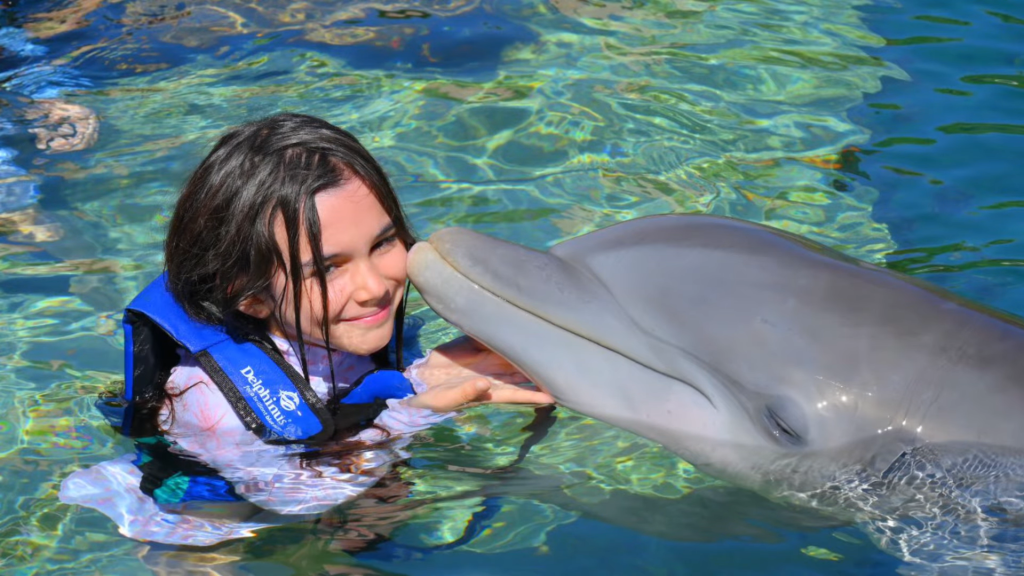
[[[179,362],[178,347],[196,358],[246,427],[268,443],[329,439],[373,421],[387,399],[414,393],[401,372],[374,370],[329,408],[269,339],[189,317],[168,291],[166,273],[128,304],[123,325],[127,407],[121,428],[129,435],[134,404],[162,392]]]

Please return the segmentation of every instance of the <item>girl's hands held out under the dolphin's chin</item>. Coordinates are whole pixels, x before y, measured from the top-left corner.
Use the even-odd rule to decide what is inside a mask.
[[[434,348],[416,375],[427,389],[408,405],[451,412],[476,404],[551,404],[551,395],[522,387],[529,380],[507,360],[469,337]]]

